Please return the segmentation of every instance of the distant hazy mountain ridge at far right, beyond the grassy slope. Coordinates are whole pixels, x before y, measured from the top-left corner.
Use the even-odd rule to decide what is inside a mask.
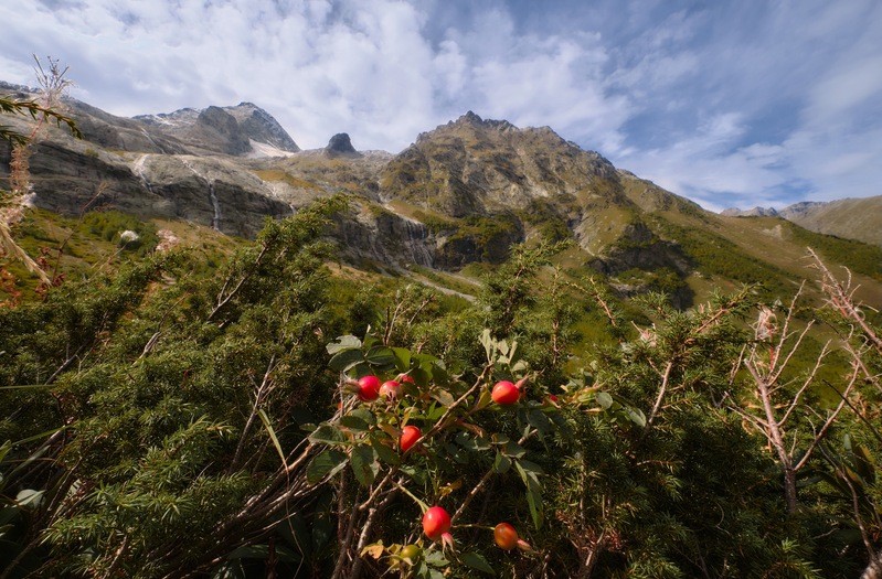
[[[746,211],[729,208],[721,215],[783,217],[812,232],[882,246],[882,195],[841,199],[826,203],[804,201],[780,211],[772,207],[754,207]]]

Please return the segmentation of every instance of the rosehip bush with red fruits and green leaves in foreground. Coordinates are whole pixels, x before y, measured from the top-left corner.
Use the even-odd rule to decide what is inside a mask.
[[[489,331],[480,342],[483,364],[460,374],[429,354],[370,335],[328,345],[329,366],[340,373],[340,405],[312,427],[309,441],[322,450],[307,478],[339,493],[343,521],[333,577],[355,576],[364,566],[417,578],[491,575],[500,556],[487,542],[492,518],[519,521],[522,529],[545,524],[540,463],[555,455],[568,428],[559,406],[599,410],[598,390],[574,389],[551,404],[545,385],[531,379],[529,393],[519,387],[532,375],[517,342]],[[348,394],[365,377],[383,383],[381,400]],[[541,553],[506,525],[495,532],[497,543],[507,549],[522,544],[524,553],[504,565],[511,557],[541,565]]]

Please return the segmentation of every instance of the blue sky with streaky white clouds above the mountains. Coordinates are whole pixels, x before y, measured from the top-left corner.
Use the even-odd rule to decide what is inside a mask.
[[[710,210],[882,194],[880,0],[19,0],[0,79],[59,58],[121,116],[251,101],[305,149],[468,110],[549,126]]]

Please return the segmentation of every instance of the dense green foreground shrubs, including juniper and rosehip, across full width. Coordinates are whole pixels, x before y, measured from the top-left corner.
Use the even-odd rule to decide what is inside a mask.
[[[649,293],[635,318],[549,269],[565,246],[516,246],[468,303],[332,276],[341,207],[267,225],[216,275],[132,254],[0,308],[3,577],[879,564],[882,341],[820,260],[822,310],[746,288],[687,311]],[[796,313],[838,332],[820,357]],[[833,350],[846,372],[818,372]]]

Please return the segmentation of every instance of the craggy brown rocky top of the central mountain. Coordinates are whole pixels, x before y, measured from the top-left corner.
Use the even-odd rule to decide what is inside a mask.
[[[548,127],[519,129],[469,111],[393,159],[381,182],[405,199],[454,217],[527,207],[533,200],[610,193],[618,175],[609,161],[564,141]]]

